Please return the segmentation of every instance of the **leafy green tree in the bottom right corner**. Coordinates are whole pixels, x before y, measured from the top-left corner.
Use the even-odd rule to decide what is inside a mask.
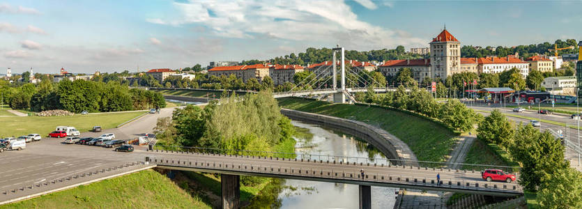
[[[557,171],[536,199],[542,208],[582,208],[582,173],[572,168]]]

